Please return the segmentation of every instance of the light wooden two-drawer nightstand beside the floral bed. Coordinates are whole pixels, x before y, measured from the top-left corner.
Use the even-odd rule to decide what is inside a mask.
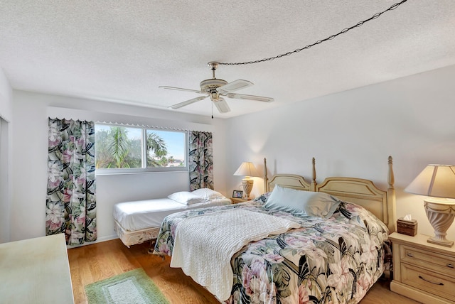
[[[429,236],[392,233],[390,290],[422,303],[455,303],[455,246],[427,242]]]

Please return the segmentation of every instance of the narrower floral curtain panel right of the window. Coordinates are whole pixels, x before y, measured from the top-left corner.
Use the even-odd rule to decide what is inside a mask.
[[[213,148],[210,132],[190,131],[189,134],[190,191],[213,189]]]

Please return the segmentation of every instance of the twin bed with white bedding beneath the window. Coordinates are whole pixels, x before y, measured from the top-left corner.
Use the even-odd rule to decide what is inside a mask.
[[[114,205],[114,230],[125,246],[158,237],[164,217],[174,212],[231,204],[220,192],[208,188],[175,192],[165,198],[119,202]]]

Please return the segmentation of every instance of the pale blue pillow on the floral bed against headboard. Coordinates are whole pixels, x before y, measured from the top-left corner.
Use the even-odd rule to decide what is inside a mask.
[[[323,192],[309,192],[276,185],[264,207],[284,210],[294,215],[328,219],[340,205],[340,200]]]

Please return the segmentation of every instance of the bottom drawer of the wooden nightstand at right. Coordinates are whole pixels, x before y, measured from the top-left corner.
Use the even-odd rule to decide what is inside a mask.
[[[402,283],[439,295],[447,299],[455,298],[455,279],[418,266],[401,264]]]

